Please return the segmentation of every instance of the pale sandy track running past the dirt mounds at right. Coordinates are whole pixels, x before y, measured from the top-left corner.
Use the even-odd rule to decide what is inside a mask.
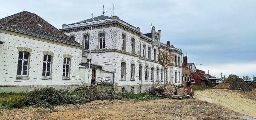
[[[195,97],[199,100],[208,101],[223,106],[227,109],[256,118],[256,101],[245,99],[243,91],[210,89],[195,91]]]

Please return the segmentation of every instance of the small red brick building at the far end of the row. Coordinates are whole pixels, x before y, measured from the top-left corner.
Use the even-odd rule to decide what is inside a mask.
[[[200,84],[202,87],[207,86],[208,82],[204,74],[205,74],[204,71],[200,70],[200,77],[199,77],[199,70],[196,69],[196,72],[191,74],[190,85],[199,86]]]

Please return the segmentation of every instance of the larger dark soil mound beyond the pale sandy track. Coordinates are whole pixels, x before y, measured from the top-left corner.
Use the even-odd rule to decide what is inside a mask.
[[[227,78],[222,83],[218,84],[215,88],[217,89],[230,89],[230,90],[244,90],[252,91],[253,88],[250,87],[242,78]]]

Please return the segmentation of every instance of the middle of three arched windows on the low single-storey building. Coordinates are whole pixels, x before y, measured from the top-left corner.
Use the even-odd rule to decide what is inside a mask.
[[[52,56],[44,55],[42,76],[51,76]]]

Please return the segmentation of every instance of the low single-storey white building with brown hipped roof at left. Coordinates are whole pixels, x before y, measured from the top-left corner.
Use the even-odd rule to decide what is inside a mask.
[[[0,19],[0,92],[35,87],[77,88],[82,46],[36,14],[23,11]]]

